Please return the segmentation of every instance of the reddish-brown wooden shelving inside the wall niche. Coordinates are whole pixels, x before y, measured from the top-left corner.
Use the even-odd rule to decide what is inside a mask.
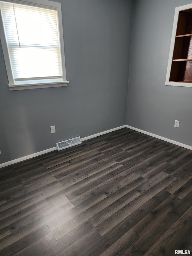
[[[179,11],[169,81],[192,83],[192,8]]]

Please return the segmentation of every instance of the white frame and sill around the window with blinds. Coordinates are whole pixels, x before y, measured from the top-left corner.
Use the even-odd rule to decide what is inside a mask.
[[[1,1],[1,0],[0,0]],[[64,40],[63,40],[63,23],[62,23],[62,14],[61,14],[61,3],[57,2],[52,2],[48,0],[25,0],[25,1],[11,1],[11,0],[5,0],[7,2],[16,2],[19,4],[23,3],[32,3],[32,4],[41,4],[44,5],[45,8],[47,6],[49,7],[55,7],[57,8],[58,12],[58,26],[59,26],[59,37],[60,37],[60,46],[61,46],[61,61],[62,61],[62,72],[63,72],[63,80],[62,81],[49,81],[49,82],[42,82],[42,81],[37,81],[37,82],[31,82],[31,83],[14,83],[13,79],[13,73],[11,70],[11,63],[9,59],[9,53],[8,53],[8,47],[7,47],[7,42],[5,38],[5,33],[4,33],[4,26],[3,26],[3,20],[0,12],[0,38],[1,38],[1,45],[2,45],[2,50],[3,50],[3,55],[4,55],[4,61],[5,61],[5,66],[7,69],[7,76],[8,76],[8,86],[10,91],[15,91],[15,90],[25,90],[25,89],[38,89],[38,88],[50,88],[50,87],[63,87],[67,86],[67,81],[66,78],[66,69],[65,69],[65,56],[64,56]]]

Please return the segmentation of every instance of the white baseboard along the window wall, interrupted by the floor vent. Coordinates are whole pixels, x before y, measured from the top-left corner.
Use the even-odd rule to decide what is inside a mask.
[[[91,138],[95,138],[95,137],[98,137],[98,136],[100,136],[100,135],[103,135],[103,134],[106,134],[106,133],[109,133],[109,132],[112,132],[112,131],[116,131],[116,130],[119,130],[119,129],[122,129],[122,128],[125,128],[125,127],[126,127],[126,125],[122,125],[122,126],[119,126],[119,127],[116,127],[116,128],[110,129],[110,130],[107,130],[107,131],[102,131],[102,132],[99,132],[99,133],[90,135],[90,136],[88,136],[88,137],[84,137],[84,138],[82,138],[81,140],[82,140],[82,141],[84,141],[84,140],[89,140],[89,139],[91,139]],[[44,155],[44,154],[49,153],[49,152],[52,152],[52,151],[54,151],[54,150],[57,150],[57,147],[53,147],[53,148],[50,148],[50,149],[45,149],[45,150],[43,150],[43,151],[40,151],[40,152],[31,154],[31,155],[26,155],[26,156],[23,156],[23,157],[20,157],[20,158],[17,158],[17,159],[14,159],[14,160],[11,160],[11,161],[2,163],[2,164],[0,164],[0,168],[5,167],[5,166],[8,166],[8,165],[11,165],[11,164],[16,164],[16,163],[18,163],[18,162],[21,162],[21,161],[24,161],[24,160],[27,160],[27,159],[30,159],[30,158],[33,158],[33,157],[36,157],[36,156],[39,156],[39,155]]]

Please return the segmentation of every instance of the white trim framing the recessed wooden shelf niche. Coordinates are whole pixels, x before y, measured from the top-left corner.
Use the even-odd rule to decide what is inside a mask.
[[[173,21],[173,31],[172,31],[172,37],[171,37],[171,46],[170,46],[170,53],[169,53],[169,60],[167,65],[167,75],[165,80],[165,85],[172,85],[172,86],[184,86],[184,87],[192,87],[192,83],[182,83],[182,82],[170,82],[170,73],[171,73],[171,65],[172,65],[172,59],[173,59],[173,51],[175,46],[175,38],[176,38],[176,31],[177,31],[177,22],[179,18],[179,11],[184,11],[187,9],[191,9],[192,4],[188,5],[182,5],[175,8],[175,16]]]

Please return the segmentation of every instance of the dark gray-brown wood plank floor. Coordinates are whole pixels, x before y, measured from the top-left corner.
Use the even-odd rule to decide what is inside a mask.
[[[192,151],[123,128],[0,169],[0,255],[192,254]]]

